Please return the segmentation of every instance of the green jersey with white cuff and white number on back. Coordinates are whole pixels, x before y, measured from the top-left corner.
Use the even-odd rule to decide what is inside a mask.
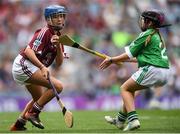
[[[166,53],[166,47],[161,42],[160,35],[155,32],[150,41],[145,45],[146,39],[149,35],[155,32],[154,29],[148,29],[130,44],[125,47],[125,51],[130,58],[136,57],[138,67],[146,65],[153,65],[156,67],[169,68],[169,59]]]

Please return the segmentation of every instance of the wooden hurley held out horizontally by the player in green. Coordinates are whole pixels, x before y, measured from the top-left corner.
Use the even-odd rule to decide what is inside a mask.
[[[91,49],[89,49],[87,47],[84,47],[84,46],[80,45],[79,43],[75,42],[73,39],[71,39],[67,35],[60,36],[59,42],[62,43],[63,45],[66,45],[66,46],[70,46],[70,47],[74,47],[74,48],[84,50],[84,51],[86,51],[88,53],[91,53],[93,55],[96,55],[96,56],[98,56],[98,57],[100,57],[102,59],[106,59],[106,58],[109,57],[109,56],[107,56],[105,54],[99,53],[97,51],[91,50]],[[122,65],[122,63],[116,63],[116,64],[117,65]]]

